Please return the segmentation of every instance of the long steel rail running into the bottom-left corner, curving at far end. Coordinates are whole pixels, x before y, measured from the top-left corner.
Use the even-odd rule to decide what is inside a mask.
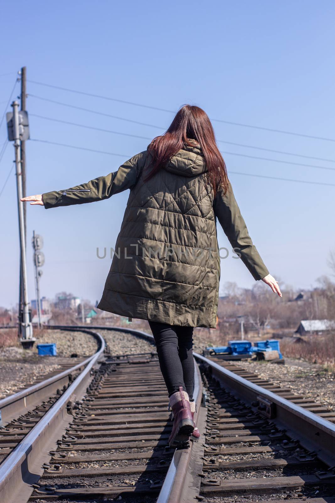
[[[93,334],[90,330],[88,332]],[[51,458],[49,451],[56,446],[62,432],[72,421],[73,416],[68,405],[84,396],[87,385],[92,379],[91,370],[105,349],[103,338],[99,333],[94,334],[100,341],[100,349],[57,402],[0,465],[2,503],[26,503],[33,491],[32,483],[38,482],[43,473],[43,463]]]

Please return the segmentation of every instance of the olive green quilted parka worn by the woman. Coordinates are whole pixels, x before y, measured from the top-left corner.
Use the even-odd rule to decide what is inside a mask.
[[[147,182],[152,156],[145,150],[105,177],[43,194],[48,209],[102,201],[130,189],[99,309],[215,328],[220,278],[216,218],[255,280],[269,273],[231,186],[213,197],[200,145],[190,142]]]

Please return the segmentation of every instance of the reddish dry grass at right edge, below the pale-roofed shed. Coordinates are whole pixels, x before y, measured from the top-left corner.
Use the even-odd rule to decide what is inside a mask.
[[[301,358],[309,363],[323,365],[329,370],[335,369],[335,334],[310,336],[298,341],[283,339],[280,342],[284,357]]]

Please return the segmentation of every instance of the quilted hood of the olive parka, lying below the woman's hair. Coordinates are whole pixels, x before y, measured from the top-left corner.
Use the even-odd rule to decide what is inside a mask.
[[[189,142],[184,144],[169,162],[164,166],[166,171],[183,177],[196,177],[207,171],[205,159],[199,143],[189,138]]]

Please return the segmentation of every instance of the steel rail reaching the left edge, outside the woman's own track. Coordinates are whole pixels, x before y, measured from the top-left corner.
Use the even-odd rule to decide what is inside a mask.
[[[61,327],[61,325],[57,325],[57,328],[59,327]],[[55,326],[52,326],[52,328],[55,328]],[[63,329],[68,330],[68,327]],[[87,330],[87,328],[85,330],[81,329],[80,331],[85,331],[95,337],[95,333]],[[14,393],[0,400],[0,426],[4,427],[8,425],[11,421],[26,413],[27,410],[36,407],[43,399],[49,398],[59,387],[67,385],[68,382],[70,382],[71,374],[85,367],[93,357],[94,355],[49,379],[45,379],[38,384],[34,384],[29,388],[23,389],[18,393]]]

